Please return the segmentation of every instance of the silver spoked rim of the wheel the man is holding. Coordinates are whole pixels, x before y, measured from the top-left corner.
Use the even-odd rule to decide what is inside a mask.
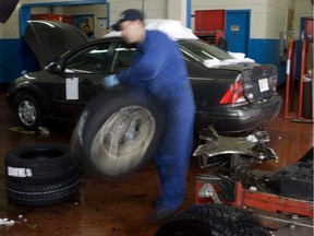
[[[92,163],[107,175],[128,173],[141,163],[155,132],[155,118],[148,109],[123,107],[96,133],[90,149]]]

